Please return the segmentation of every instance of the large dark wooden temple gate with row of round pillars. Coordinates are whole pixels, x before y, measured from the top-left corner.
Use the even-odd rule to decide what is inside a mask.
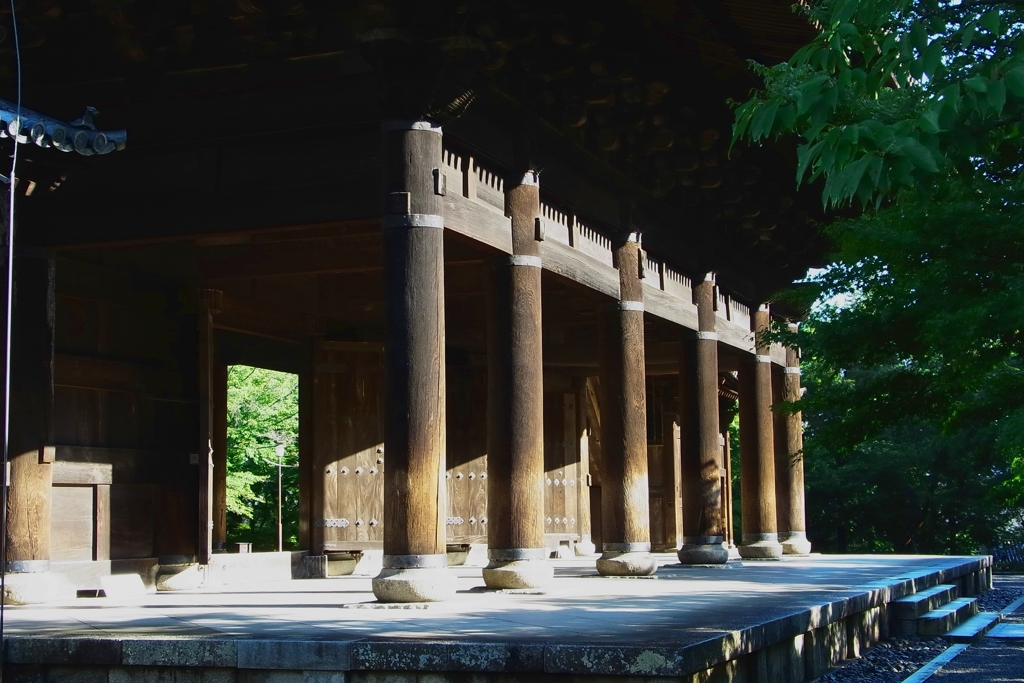
[[[60,171],[51,133],[27,157],[49,189],[18,199],[12,572],[94,588],[215,563],[240,364],[299,376],[299,546],[382,551],[382,599],[444,594],[453,546],[486,543],[506,588],[572,549],[626,574],[652,549],[806,551],[799,416],[772,411],[799,396],[799,354],[755,335],[800,316],[764,302],[820,258],[817,202],[781,189],[772,145],[730,152],[724,106],[798,19],[771,10],[786,38],[733,44],[736,22],[764,26],[744,0],[581,3],[583,24],[540,2],[311,1],[272,22],[243,4],[187,25],[193,56],[129,45],[187,32],[110,51],[90,42],[105,15],[46,19],[69,27],[51,47],[87,55],[61,96],[109,103],[141,142],[88,172]],[[173,14],[133,12],[118,26]],[[286,23],[323,31],[260,49],[317,47],[247,51]],[[126,55],[148,77],[126,81]]]

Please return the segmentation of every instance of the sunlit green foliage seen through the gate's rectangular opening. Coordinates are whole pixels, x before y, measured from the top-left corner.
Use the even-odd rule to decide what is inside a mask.
[[[278,456],[286,446],[282,519],[286,548],[298,536],[298,376],[231,366],[227,372],[227,536],[278,548]]]

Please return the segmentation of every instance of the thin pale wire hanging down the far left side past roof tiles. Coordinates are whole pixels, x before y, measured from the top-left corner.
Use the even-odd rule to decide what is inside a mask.
[[[0,644],[3,643],[4,605],[7,601],[7,486],[10,484],[8,471],[10,467],[10,342],[11,321],[14,317],[14,171],[17,168],[17,138],[22,134],[22,45],[17,38],[17,15],[14,13],[14,0],[10,0],[10,24],[14,39],[16,130],[10,139],[14,144],[14,153],[10,162],[10,193],[7,203],[7,330],[4,344],[4,387],[3,387],[3,476],[2,508],[0,508]],[[0,674],[2,675],[2,674]]]

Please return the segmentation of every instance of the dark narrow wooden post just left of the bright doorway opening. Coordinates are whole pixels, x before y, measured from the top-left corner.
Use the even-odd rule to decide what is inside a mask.
[[[213,316],[220,310],[221,293],[217,290],[199,291],[199,531],[197,539],[199,547],[197,561],[200,564],[209,564],[213,555],[213,535],[216,522],[214,479],[219,476],[215,472],[216,458],[214,452],[214,415],[217,402],[216,388],[216,360],[214,358],[214,332]],[[226,391],[226,377],[225,391]],[[226,401],[226,396],[225,396]],[[226,414],[225,414],[225,434],[224,445],[226,450]],[[226,453],[224,454],[224,466],[227,464]],[[226,472],[225,472],[226,474]],[[226,509],[226,479],[225,479],[225,509]],[[225,518],[226,531],[226,518]]]

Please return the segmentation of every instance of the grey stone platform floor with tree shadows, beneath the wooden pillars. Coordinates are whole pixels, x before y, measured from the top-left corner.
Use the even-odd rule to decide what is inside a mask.
[[[282,657],[294,655],[345,670],[486,671],[492,665],[480,657],[494,656],[496,671],[679,675],[722,660],[723,647],[756,650],[878,604],[880,591],[902,595],[913,590],[908,582],[932,585],[988,565],[982,557],[812,555],[711,568],[657,557],[657,572],[645,579],[599,577],[594,557],[551,560],[556,578],[544,595],[484,592],[479,567],[453,567],[456,599],[404,608],[377,606],[370,577],[7,607],[5,660],[42,661],[86,643],[98,652],[117,642],[111,657],[122,666],[175,658],[197,666],[199,657],[200,666],[241,670],[278,657],[274,668],[288,668]],[[178,643],[177,653],[160,654],[157,641]],[[205,644],[182,649],[184,641]]]

